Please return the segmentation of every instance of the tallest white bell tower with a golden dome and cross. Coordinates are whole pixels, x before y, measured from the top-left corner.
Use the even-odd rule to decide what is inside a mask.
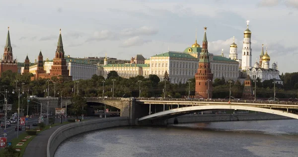
[[[241,70],[245,71],[251,69],[251,31],[248,29],[248,20],[247,29],[244,31],[243,47],[242,47],[242,64]]]

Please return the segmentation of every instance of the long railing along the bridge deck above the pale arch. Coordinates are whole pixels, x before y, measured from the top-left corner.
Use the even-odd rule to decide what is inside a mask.
[[[201,101],[201,102],[228,102],[228,99],[183,99],[183,98],[136,98],[136,100],[159,100],[159,101]],[[254,101],[254,100],[233,100],[231,99],[230,102],[238,102],[238,103],[263,103],[263,104],[287,104],[287,105],[298,105],[298,102],[292,101],[268,101],[268,100],[261,100],[261,101]]]

